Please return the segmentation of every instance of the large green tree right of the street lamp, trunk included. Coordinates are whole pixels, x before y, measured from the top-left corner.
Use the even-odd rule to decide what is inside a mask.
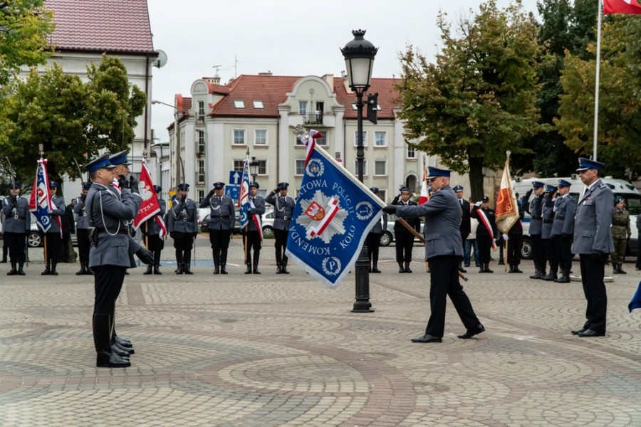
[[[529,152],[523,138],[541,129],[536,23],[520,1],[499,10],[494,0],[481,4],[474,19],[457,23],[458,38],[444,14],[437,23],[444,46],[435,63],[412,46],[401,56],[400,117],[407,137],[420,139],[419,149],[469,172],[471,195],[478,199],[482,168],[502,167],[506,150]]]

